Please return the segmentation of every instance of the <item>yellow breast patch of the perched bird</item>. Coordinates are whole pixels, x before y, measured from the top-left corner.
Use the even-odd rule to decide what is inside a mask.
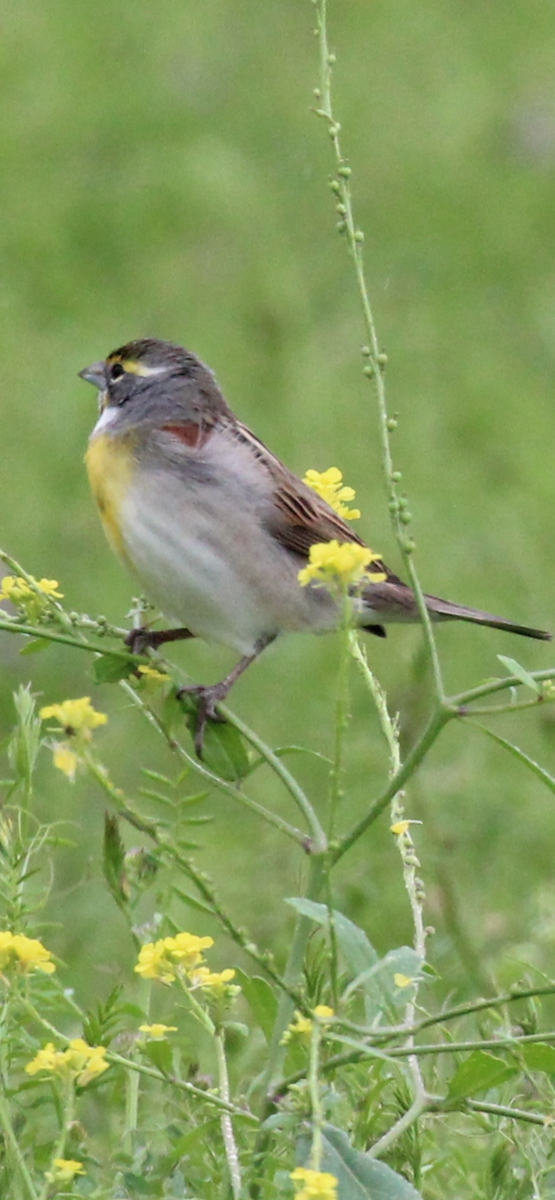
[[[136,467],[133,439],[97,433],[89,442],[85,463],[105,533],[112,548],[126,562],[120,516]]]

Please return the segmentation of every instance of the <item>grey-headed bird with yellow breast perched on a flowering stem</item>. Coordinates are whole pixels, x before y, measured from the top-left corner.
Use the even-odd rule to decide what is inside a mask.
[[[299,583],[310,547],[365,544],[234,416],[189,350],[143,338],[80,376],[100,391],[86,466],[108,540],[147,595],[185,626],[132,630],[127,643],[141,653],[202,637],[241,655],[221,683],[186,689],[198,701],[201,751],[207,719],[265,646],[280,634],[338,626],[330,590]],[[435,620],[551,636],[437,596],[425,602]],[[369,564],[352,604],[357,625],[378,637],[386,624],[419,619],[412,590],[381,560]]]

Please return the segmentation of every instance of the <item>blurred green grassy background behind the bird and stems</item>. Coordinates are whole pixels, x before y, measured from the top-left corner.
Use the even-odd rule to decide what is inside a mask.
[[[553,10],[338,0],[329,23],[422,581],[554,629]],[[341,467],[360,532],[399,566],[353,274],[334,232],[328,137],[311,114],[312,24],[304,0],[2,6],[1,542],[37,577],[60,580],[72,608],[121,624],[133,592],[88,493],[82,460],[96,403],[77,372],[144,335],[209,362],[232,407],[296,470]],[[497,654],[529,667],[554,661],[545,646],[465,625],[442,628],[438,642],[456,690],[497,673]],[[407,742],[428,703],[420,647],[418,629],[368,646]],[[92,694],[109,712],[99,746],[132,793],[138,760],[177,772],[117,689],[91,692],[84,656],[18,650],[0,637],[4,731],[12,689],[32,678],[44,703]],[[202,680],[231,665],[214,648],[172,653]],[[326,754],[336,667],[334,637],[291,638],[233,704],[273,745]],[[387,769],[356,678],[352,713],[345,826]],[[495,727],[555,769],[549,708]],[[292,762],[323,808],[326,767]],[[271,781],[261,776],[257,794],[290,814]],[[102,883],[103,799],[85,781],[72,790],[44,755],[37,803],[73,840],[55,857],[48,944],[80,956],[80,985],[102,990],[132,958]],[[284,946],[291,914],[280,898],[297,894],[304,864],[225,798],[209,810],[199,863],[240,923]],[[447,985],[479,983],[476,953],[501,980],[523,958],[553,971],[555,816],[541,784],[478,732],[450,728],[407,811],[424,817],[416,839],[437,929],[430,949]],[[387,826],[336,881],[339,906],[381,949],[411,936]]]

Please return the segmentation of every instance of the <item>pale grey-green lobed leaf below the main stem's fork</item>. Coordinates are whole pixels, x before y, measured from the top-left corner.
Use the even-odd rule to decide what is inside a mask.
[[[323,904],[303,898],[288,899],[297,912],[309,917],[317,925],[329,928],[328,908]],[[363,929],[354,925],[342,912],[333,912],[335,937],[345,964],[353,976],[347,994],[354,988],[359,988],[364,994],[364,1008],[368,1021],[374,1021],[376,1016],[386,1013],[388,1019],[396,1020],[399,1012],[411,998],[408,988],[399,988],[394,976],[404,974],[407,978],[416,978],[422,970],[422,964],[413,949],[401,946],[390,950],[386,958],[380,959],[369,942]]]

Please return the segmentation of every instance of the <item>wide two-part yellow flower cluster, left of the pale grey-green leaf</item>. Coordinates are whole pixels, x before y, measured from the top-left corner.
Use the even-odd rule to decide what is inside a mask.
[[[143,979],[160,979],[161,983],[171,984],[180,978],[189,984],[191,991],[201,988],[216,1000],[231,998],[239,991],[239,988],[231,985],[235,976],[233,968],[210,971],[204,966],[202,952],[211,946],[213,937],[198,937],[197,934],[161,937],[141,948],[135,970]]]

